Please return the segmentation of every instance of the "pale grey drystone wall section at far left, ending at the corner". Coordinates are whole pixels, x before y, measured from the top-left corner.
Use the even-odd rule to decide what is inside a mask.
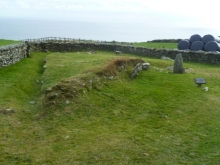
[[[0,68],[15,64],[29,56],[26,44],[15,44],[0,47]]]

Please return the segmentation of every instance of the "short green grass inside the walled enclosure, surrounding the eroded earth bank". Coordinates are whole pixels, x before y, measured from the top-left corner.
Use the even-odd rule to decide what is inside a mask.
[[[134,80],[127,67],[69,104],[41,105],[48,87],[94,81],[94,71],[125,57],[138,56],[32,53],[1,68],[0,110],[15,113],[0,113],[0,164],[219,164],[219,66],[184,63],[192,72],[173,74],[166,70],[173,61],[142,58],[151,67]],[[206,78],[208,92],[195,77]]]

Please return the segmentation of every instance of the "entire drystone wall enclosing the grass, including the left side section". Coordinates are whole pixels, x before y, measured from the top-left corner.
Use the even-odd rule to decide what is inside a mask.
[[[75,52],[75,51],[121,51],[127,54],[135,54],[144,57],[161,58],[163,56],[175,59],[181,53],[184,62],[199,62],[220,65],[220,54],[214,52],[183,51],[170,49],[152,49],[145,47],[123,46],[104,43],[62,43],[62,42],[26,42],[0,47],[0,68],[9,66],[29,56],[30,52]]]

